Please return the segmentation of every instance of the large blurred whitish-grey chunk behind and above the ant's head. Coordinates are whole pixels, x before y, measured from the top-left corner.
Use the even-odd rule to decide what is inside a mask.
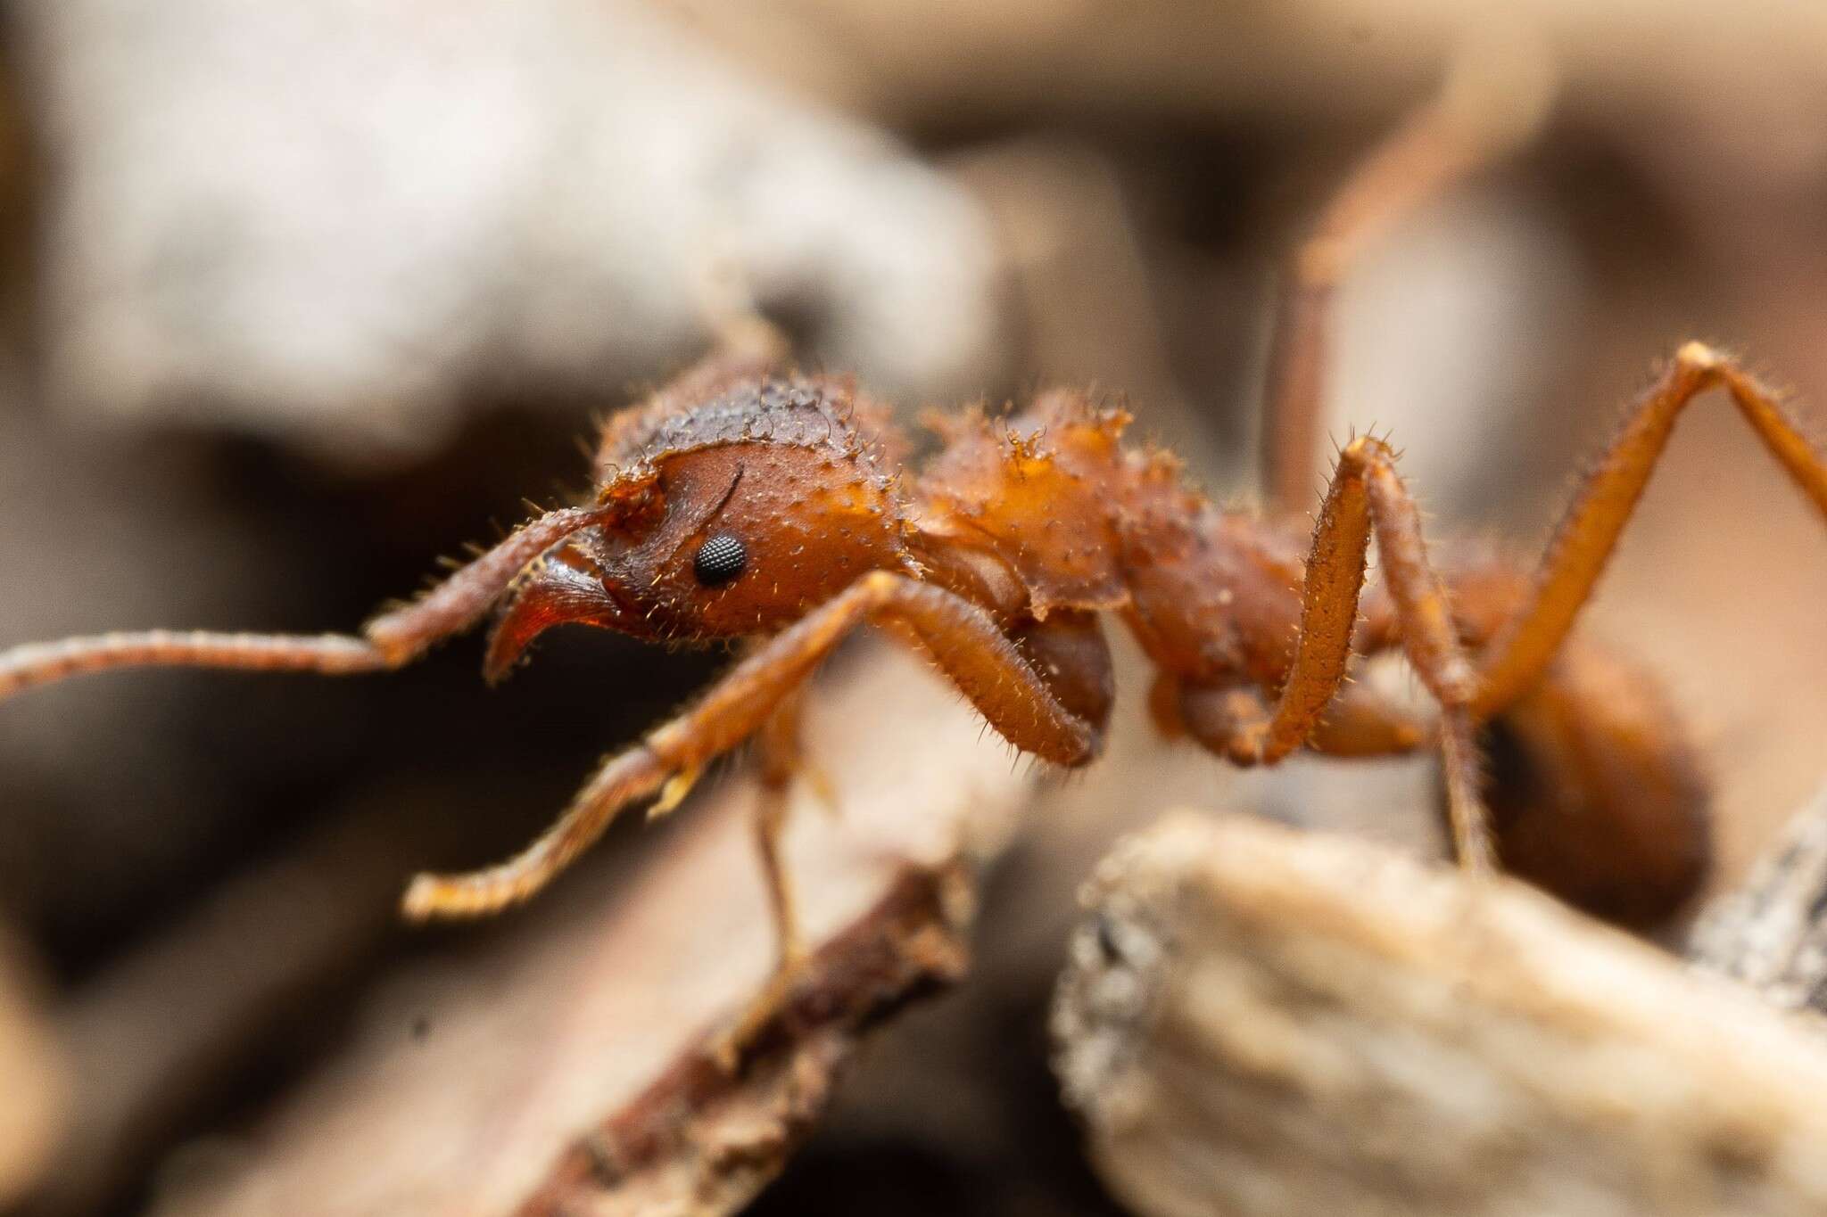
[[[882,390],[976,390],[994,250],[877,133],[632,2],[40,0],[48,390],[365,462],[601,394],[733,296]]]

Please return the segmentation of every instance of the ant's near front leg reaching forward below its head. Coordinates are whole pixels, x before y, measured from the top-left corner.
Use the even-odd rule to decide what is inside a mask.
[[[685,713],[614,755],[559,821],[519,856],[462,876],[422,874],[406,892],[415,920],[484,916],[544,887],[603,836],[616,814],[661,785],[660,810],[689,788],[713,757],[753,735],[844,637],[864,622],[910,633],[952,684],[1021,752],[1054,765],[1083,765],[1098,730],[1049,690],[1018,646],[977,604],[904,575],[871,571],[764,642]]]

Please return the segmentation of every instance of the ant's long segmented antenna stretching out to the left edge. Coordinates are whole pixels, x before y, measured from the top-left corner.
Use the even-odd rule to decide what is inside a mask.
[[[417,602],[371,620],[365,637],[143,629],[15,646],[0,651],[0,701],[38,684],[108,668],[186,666],[325,675],[400,668],[433,642],[471,626],[523,566],[601,518],[603,513],[594,507],[548,511]]]

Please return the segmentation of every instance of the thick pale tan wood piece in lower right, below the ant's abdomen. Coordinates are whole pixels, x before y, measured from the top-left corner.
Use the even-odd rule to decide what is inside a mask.
[[[1827,1040],[1520,883],[1180,814],[1087,903],[1058,1071],[1138,1213],[1827,1212]]]

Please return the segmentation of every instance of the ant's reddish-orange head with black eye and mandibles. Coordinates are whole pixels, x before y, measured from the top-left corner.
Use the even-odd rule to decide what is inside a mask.
[[[769,633],[871,569],[914,571],[892,469],[851,394],[742,378],[610,421],[603,522],[515,582],[490,642],[501,675],[561,622],[656,640]]]

